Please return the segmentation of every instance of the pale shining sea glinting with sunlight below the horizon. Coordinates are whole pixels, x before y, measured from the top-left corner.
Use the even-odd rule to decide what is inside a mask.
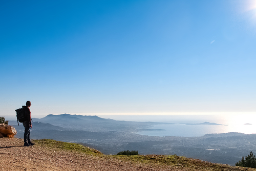
[[[149,131],[136,132],[148,136],[180,136],[197,137],[205,134],[239,132],[256,134],[256,114],[225,114],[225,115],[98,115],[125,121],[151,121],[159,124],[150,127]],[[220,125],[197,125],[204,122]],[[170,124],[172,123],[172,124]],[[195,125],[187,125],[195,124]],[[155,130],[152,130],[155,129]],[[160,130],[159,130],[160,129]]]

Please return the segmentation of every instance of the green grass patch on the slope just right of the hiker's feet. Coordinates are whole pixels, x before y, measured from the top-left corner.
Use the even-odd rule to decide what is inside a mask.
[[[53,139],[38,139],[35,140],[36,144],[40,146],[46,146],[48,148],[55,148],[55,149],[61,149],[61,150],[67,150],[67,151],[76,151],[86,154],[102,154],[98,150],[91,149],[87,146],[83,146],[77,143],[71,143],[71,142],[62,142],[62,141],[56,141]]]

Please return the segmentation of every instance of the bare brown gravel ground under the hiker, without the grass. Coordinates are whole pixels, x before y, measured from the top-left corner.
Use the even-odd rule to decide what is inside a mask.
[[[0,138],[0,170],[185,170],[121,161],[111,156],[54,150],[36,144],[23,145],[23,139]]]

